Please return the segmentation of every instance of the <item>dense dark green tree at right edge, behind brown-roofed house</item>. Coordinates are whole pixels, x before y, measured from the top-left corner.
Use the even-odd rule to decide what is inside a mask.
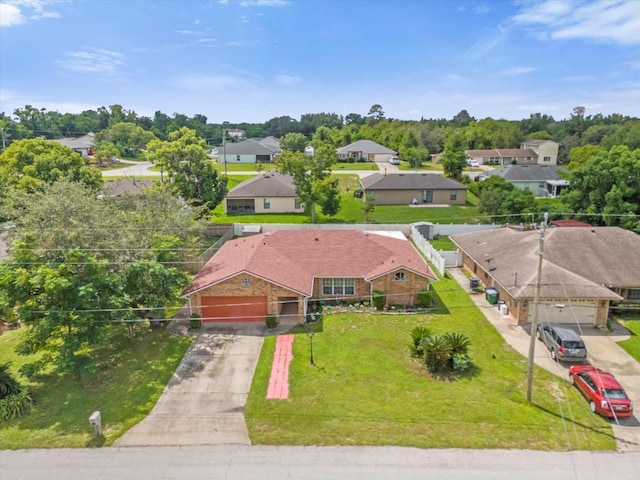
[[[573,169],[569,182],[562,200],[583,219],[640,232],[640,149],[598,153]]]

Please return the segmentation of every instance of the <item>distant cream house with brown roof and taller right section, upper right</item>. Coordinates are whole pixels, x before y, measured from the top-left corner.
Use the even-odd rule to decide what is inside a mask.
[[[525,140],[520,148],[465,150],[465,153],[469,160],[480,165],[557,165],[559,146],[553,140]],[[432,158],[435,160],[440,156]]]

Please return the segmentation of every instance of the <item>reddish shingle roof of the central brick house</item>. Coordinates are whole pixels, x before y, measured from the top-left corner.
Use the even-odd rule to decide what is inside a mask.
[[[226,242],[183,295],[245,272],[311,296],[316,277],[372,280],[400,268],[437,279],[407,240],[358,230],[278,230]]]

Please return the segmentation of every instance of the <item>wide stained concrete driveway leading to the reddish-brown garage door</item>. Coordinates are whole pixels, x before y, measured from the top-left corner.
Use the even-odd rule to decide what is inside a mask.
[[[250,445],[243,411],[263,330],[205,326],[151,413],[114,446]]]

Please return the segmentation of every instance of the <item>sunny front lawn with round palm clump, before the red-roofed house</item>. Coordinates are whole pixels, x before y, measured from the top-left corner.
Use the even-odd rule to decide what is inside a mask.
[[[252,443],[616,448],[610,424],[591,414],[566,380],[536,368],[528,403],[526,359],[505,344],[455,281],[443,279],[436,289],[438,303],[447,306],[438,313],[325,316],[324,331],[313,341],[315,366],[309,338],[297,335],[288,400],[265,398],[276,341],[265,339],[245,409]],[[431,378],[407,348],[417,325],[467,334],[472,370],[459,378]]]

